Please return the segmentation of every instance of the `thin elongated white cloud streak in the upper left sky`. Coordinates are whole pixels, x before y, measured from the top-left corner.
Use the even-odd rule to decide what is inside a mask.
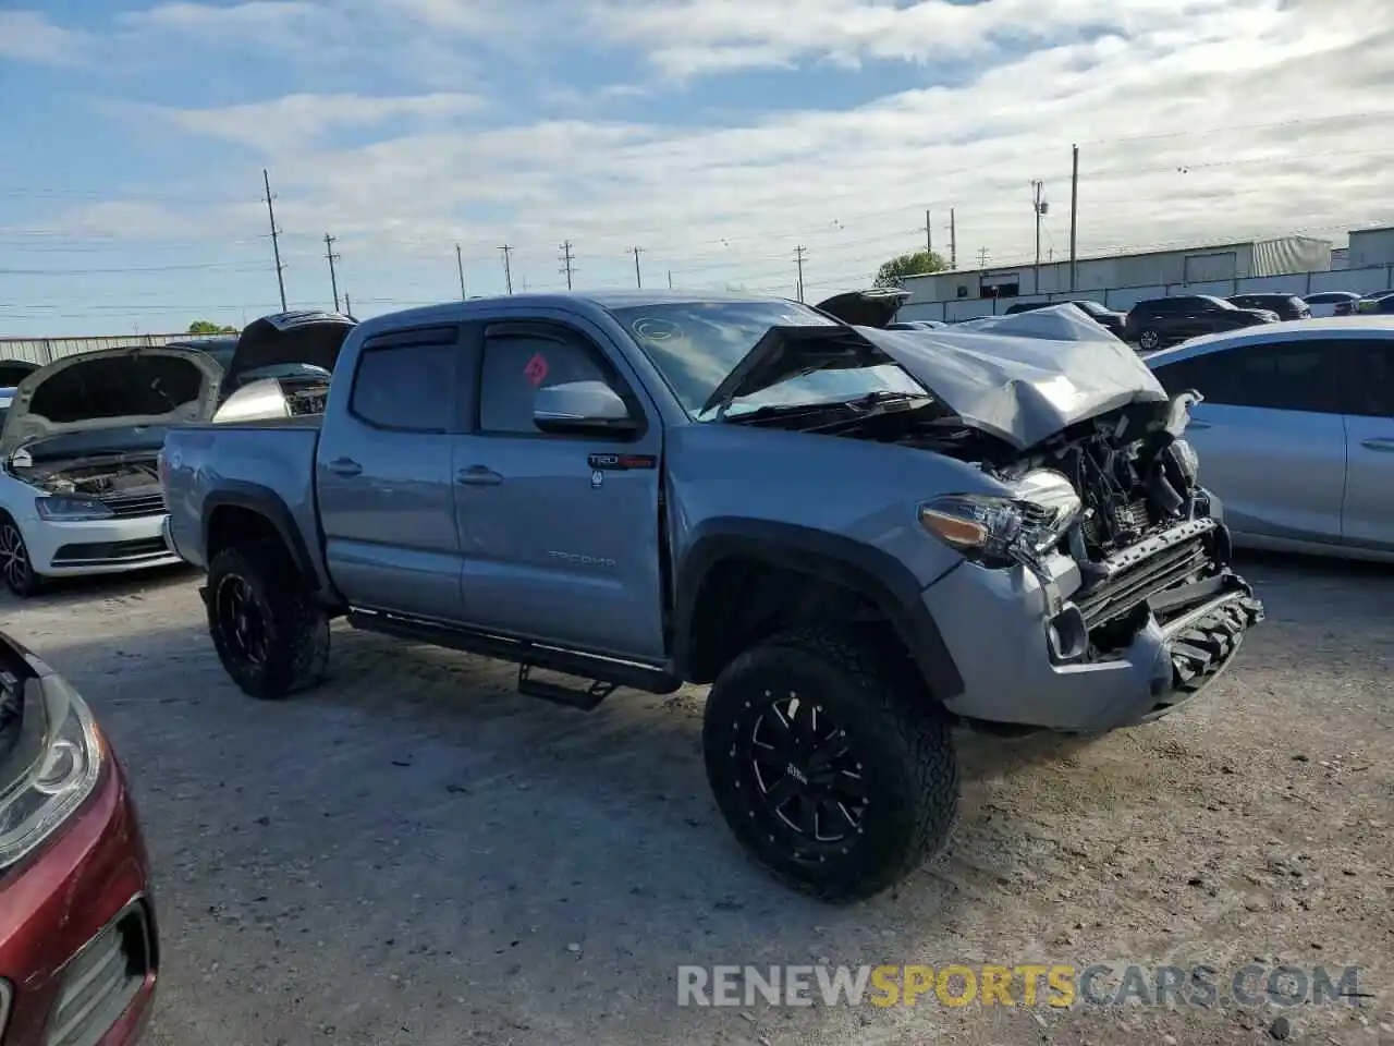
[[[245,145],[266,153],[305,148],[336,130],[367,128],[388,121],[450,121],[475,113],[484,102],[474,95],[435,93],[410,98],[362,95],[286,95],[270,102],[220,109],[141,106],[195,134]]]

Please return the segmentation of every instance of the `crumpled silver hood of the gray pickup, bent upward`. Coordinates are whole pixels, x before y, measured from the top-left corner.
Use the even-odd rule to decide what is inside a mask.
[[[1064,310],[1061,314],[1048,324],[1039,322],[1036,312],[1022,312],[972,328],[857,328],[857,333],[901,364],[965,425],[1019,450],[1129,403],[1171,399],[1128,344],[1082,314],[1076,314],[1078,329],[1075,319]],[[1071,333],[1075,336],[1062,338]]]

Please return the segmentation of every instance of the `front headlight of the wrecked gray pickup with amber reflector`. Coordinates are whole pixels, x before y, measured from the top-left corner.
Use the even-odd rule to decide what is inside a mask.
[[[1061,473],[1041,470],[1015,484],[1016,497],[945,494],[920,505],[920,526],[983,566],[1030,562],[1059,544],[1080,501]]]

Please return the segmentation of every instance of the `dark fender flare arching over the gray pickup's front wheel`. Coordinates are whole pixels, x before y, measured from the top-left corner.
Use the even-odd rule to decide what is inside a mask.
[[[824,577],[857,593],[891,622],[937,700],[952,700],[963,692],[963,676],[921,598],[924,586],[895,556],[841,534],[739,517],[714,517],[698,524],[677,565],[673,660],[683,678],[691,678],[693,619],[703,584],[712,568],[732,558]]]

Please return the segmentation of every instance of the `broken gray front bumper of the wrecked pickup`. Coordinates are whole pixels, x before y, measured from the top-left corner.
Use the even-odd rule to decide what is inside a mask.
[[[1160,551],[1147,555],[1139,549],[1126,566],[1135,576],[1156,576],[1170,565],[1179,576],[1188,569],[1186,543],[1204,534],[1196,530],[1178,527],[1170,545],[1158,543]],[[1224,537],[1223,527],[1210,533]],[[963,678],[962,693],[945,702],[953,714],[1072,734],[1146,722],[1204,690],[1263,619],[1252,589],[1228,570],[1203,586],[1153,589],[1144,597],[1129,597],[1119,584],[1140,625],[1124,649],[1089,660],[1098,589],[1083,589],[1078,565],[1065,555],[1046,561],[1043,573],[1046,584],[1023,568],[963,563],[926,590],[926,605]]]

